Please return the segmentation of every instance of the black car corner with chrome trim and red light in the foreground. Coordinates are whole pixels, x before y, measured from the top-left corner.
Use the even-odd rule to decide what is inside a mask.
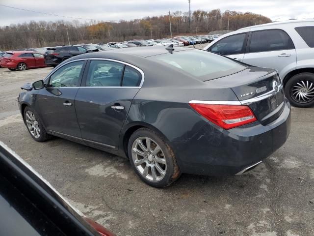
[[[1,236],[113,236],[0,141]]]

